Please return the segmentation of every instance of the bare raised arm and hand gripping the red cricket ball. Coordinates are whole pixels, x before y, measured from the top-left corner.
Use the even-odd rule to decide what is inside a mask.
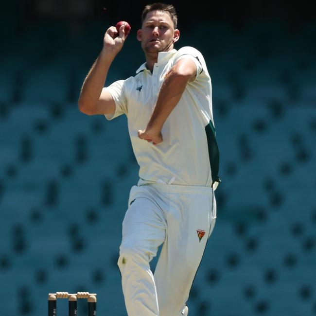
[[[85,114],[113,114],[115,112],[115,102],[104,85],[112,61],[123,47],[124,25],[120,28],[120,35],[116,36],[117,30],[114,26],[107,29],[103,49],[84,80],[78,107]]]

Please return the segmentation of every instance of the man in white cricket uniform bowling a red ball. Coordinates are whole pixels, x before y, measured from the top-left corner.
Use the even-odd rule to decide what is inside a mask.
[[[211,78],[199,51],[174,49],[179,31],[173,6],[146,6],[137,38],[146,62],[135,76],[103,88],[125,39],[123,27],[119,35],[114,27],[107,30],[78,103],[84,113],[108,120],[125,114],[140,165],[118,260],[128,315],[188,315],[186,301],[215,224],[220,181]],[[153,275],[149,262],[161,244]]]

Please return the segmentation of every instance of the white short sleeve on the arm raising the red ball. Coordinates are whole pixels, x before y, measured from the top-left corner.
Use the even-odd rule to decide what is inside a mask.
[[[125,98],[124,80],[118,80],[113,82],[110,86],[106,87],[106,90],[110,92],[115,102],[114,114],[105,114],[107,120],[113,120],[114,118],[126,114],[127,115],[127,103]]]

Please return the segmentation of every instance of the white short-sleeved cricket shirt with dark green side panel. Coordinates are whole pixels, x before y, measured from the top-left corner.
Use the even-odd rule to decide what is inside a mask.
[[[187,84],[180,101],[164,123],[161,130],[163,142],[153,145],[141,140],[137,132],[146,128],[164,76],[181,58],[194,61],[197,75]],[[153,73],[146,69],[145,63],[136,73],[134,77],[107,87],[116,110],[105,117],[112,120],[121,114],[127,116],[129,135],[140,166],[140,179],[190,186],[211,186],[213,181],[219,182],[211,78],[202,54],[193,47],[161,52]]]

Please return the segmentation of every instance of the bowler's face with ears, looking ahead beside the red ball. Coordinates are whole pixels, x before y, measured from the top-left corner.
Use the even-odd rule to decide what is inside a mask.
[[[179,39],[179,31],[174,29],[172,18],[167,12],[151,11],[137,32],[137,39],[145,53],[168,52]]]

